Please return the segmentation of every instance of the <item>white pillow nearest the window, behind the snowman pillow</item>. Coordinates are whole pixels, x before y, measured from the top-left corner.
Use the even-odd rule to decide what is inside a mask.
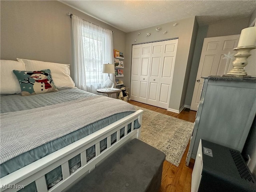
[[[44,69],[50,69],[52,74],[52,80],[57,89],[73,88],[75,86],[74,81],[70,77],[69,64],[60,64],[28,59],[17,58],[18,61],[23,62],[25,70],[38,71]]]

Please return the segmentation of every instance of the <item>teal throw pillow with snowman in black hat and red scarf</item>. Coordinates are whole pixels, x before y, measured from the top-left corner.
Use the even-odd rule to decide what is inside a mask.
[[[50,69],[41,71],[13,70],[13,72],[20,83],[22,96],[58,91],[52,80]]]

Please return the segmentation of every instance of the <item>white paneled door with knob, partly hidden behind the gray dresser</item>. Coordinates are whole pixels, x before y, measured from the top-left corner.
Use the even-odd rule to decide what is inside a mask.
[[[238,44],[240,35],[220,36],[204,38],[202,53],[196,75],[196,84],[190,109],[197,110],[204,83],[202,77],[222,76],[232,69],[232,61],[223,59],[224,54],[235,54],[233,50]]]

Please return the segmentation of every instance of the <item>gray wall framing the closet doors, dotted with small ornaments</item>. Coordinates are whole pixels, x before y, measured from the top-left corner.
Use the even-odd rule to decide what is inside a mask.
[[[178,23],[178,25],[173,26],[174,23]],[[156,27],[161,27],[162,30],[157,32]],[[128,33],[126,35],[126,66],[124,68],[125,74],[128,74],[124,77],[126,86],[130,87],[132,44],[179,38],[169,103],[169,108],[179,110],[185,102],[197,28],[196,19],[192,17]],[[168,31],[168,33],[163,34],[164,31]],[[141,34],[138,35],[138,32]],[[147,33],[151,33],[151,35],[146,36]],[[186,70],[187,68],[188,70]]]

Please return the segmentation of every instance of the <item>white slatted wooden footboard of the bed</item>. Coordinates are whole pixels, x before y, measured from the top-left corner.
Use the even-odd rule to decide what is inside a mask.
[[[78,178],[90,173],[100,161],[122,144],[133,138],[140,139],[141,126],[138,129],[134,129],[134,121],[138,119],[138,122],[142,125],[142,113],[143,110],[138,110],[32,164],[4,176],[0,179],[0,191],[18,191],[22,186],[26,186],[34,181],[36,182],[38,192],[60,192],[66,189],[70,184],[78,180]],[[130,123],[132,124],[132,129],[128,133],[128,124]],[[120,138],[120,129],[123,127],[125,130],[124,136]],[[111,135],[115,132],[117,139],[111,145]],[[107,148],[100,152],[100,141],[104,138],[107,138]],[[96,156],[86,162],[86,149],[94,145]],[[78,154],[81,156],[81,167],[70,175],[68,160]],[[63,179],[48,190],[45,174],[58,166],[61,166]]]

